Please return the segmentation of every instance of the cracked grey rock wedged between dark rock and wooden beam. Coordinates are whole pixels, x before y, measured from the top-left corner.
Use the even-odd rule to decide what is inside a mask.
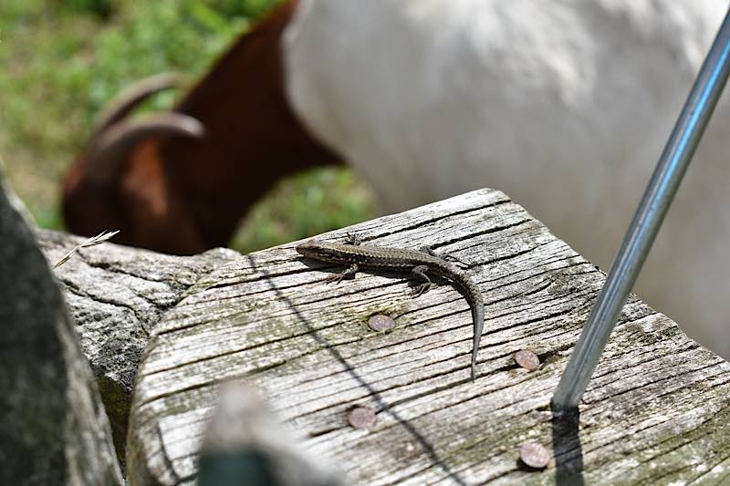
[[[49,264],[86,240],[48,230],[36,230],[36,237]],[[99,384],[122,466],[131,393],[151,330],[199,276],[240,256],[224,248],[172,256],[103,243],[79,250],[54,269]]]

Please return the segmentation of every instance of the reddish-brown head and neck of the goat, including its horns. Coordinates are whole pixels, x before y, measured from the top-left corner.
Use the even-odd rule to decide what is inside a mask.
[[[339,159],[288,106],[279,38],[296,2],[241,36],[170,113],[125,119],[169,75],[123,93],[68,170],[68,229],[120,229],[116,241],[165,253],[228,243],[238,220],[283,175]]]

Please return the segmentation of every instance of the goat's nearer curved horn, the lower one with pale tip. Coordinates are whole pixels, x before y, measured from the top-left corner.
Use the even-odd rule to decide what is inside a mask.
[[[197,119],[175,112],[160,113],[141,120],[119,121],[106,129],[89,147],[89,175],[98,181],[108,181],[130,150],[154,135],[201,139],[205,135],[205,128]]]

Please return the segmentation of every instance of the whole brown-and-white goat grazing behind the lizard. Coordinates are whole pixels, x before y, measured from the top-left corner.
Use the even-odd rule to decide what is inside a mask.
[[[295,157],[342,158],[370,182],[385,212],[490,186],[605,267],[726,7],[725,0],[288,2],[177,109],[200,119],[209,138],[218,129],[225,136],[166,138],[134,151],[134,160],[145,150],[164,156],[152,166],[167,173],[160,191],[171,196],[162,199],[168,211],[179,204],[179,214],[172,223],[162,210],[135,206],[135,216],[125,216],[130,243],[168,252],[223,244],[262,192],[252,181],[269,184]],[[256,116],[271,113],[279,116],[254,131]],[[725,357],[729,115],[721,103],[637,284],[642,298]],[[282,168],[269,167],[279,161]],[[272,172],[256,176],[245,164]],[[154,199],[139,196],[143,184],[136,193],[130,186],[114,188],[131,200]],[[130,205],[121,196],[114,203]],[[181,221],[191,229],[179,230]],[[193,243],[176,244],[188,233]]]

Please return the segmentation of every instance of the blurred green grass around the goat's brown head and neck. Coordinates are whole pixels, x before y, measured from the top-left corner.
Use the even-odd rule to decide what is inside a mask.
[[[0,164],[36,222],[63,229],[61,177],[110,98],[165,71],[197,78],[276,3],[0,0]],[[165,92],[146,108],[173,101]],[[370,191],[350,171],[309,171],[259,203],[232,246],[246,253],[373,215]]]

